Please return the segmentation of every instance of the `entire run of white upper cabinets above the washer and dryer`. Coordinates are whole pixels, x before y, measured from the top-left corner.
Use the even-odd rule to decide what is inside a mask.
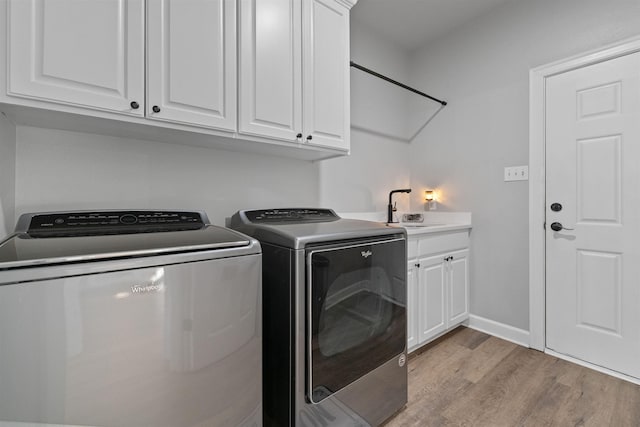
[[[0,0],[0,112],[308,160],[348,154],[355,2]]]

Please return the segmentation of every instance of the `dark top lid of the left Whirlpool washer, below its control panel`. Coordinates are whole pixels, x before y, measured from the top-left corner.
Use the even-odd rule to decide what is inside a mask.
[[[243,234],[214,225],[196,230],[52,237],[18,231],[0,244],[0,270],[247,247],[251,243]]]

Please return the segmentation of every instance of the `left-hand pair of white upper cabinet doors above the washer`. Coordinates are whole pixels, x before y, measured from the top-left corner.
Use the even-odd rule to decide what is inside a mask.
[[[10,0],[9,23],[10,95],[236,130],[234,0]]]

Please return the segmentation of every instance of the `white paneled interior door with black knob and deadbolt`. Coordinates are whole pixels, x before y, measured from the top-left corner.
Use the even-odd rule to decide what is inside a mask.
[[[640,378],[640,53],[548,78],[545,111],[546,347]]]

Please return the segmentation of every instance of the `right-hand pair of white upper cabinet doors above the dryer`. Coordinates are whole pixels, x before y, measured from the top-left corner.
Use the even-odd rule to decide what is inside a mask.
[[[241,0],[239,132],[349,149],[349,7]]]

